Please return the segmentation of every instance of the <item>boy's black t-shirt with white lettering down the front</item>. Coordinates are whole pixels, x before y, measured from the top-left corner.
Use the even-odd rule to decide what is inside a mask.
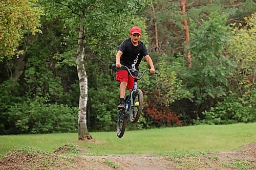
[[[123,52],[120,58],[120,63],[125,65],[129,69],[139,70],[139,64],[142,58],[148,55],[146,46],[143,42],[139,41],[137,46],[134,46],[131,38],[124,40],[121,45],[118,46],[118,50]],[[126,68],[116,68],[116,71],[124,70]],[[133,74],[137,75],[137,74]]]

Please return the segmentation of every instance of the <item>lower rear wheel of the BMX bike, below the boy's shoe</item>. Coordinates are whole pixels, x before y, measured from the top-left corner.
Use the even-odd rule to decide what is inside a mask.
[[[121,138],[123,137],[125,128],[127,124],[127,116],[124,115],[123,110],[119,112],[118,119],[116,122],[116,134],[117,137]]]

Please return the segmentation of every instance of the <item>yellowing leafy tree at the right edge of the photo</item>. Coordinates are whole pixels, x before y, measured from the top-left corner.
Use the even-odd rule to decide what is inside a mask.
[[[232,24],[233,26],[236,23]],[[245,17],[245,25],[239,23],[233,30],[233,36],[227,49],[228,55],[236,62],[236,74],[233,82],[237,86],[242,103],[252,99],[256,77],[256,13]],[[255,105],[255,100],[252,102]]]

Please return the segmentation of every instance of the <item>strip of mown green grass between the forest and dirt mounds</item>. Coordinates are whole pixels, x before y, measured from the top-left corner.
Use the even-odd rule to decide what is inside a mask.
[[[66,143],[75,143],[95,154],[146,154],[172,151],[227,151],[256,142],[256,123],[198,125],[116,132],[91,132],[96,143],[78,141],[77,133],[0,136],[0,154],[20,147],[53,152]]]

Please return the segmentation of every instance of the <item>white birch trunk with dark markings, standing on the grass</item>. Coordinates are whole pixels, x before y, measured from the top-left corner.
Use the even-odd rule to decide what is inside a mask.
[[[79,78],[80,96],[79,96],[79,110],[78,110],[78,139],[87,140],[92,139],[88,132],[86,112],[88,101],[88,77],[84,66],[84,28],[82,25],[82,18],[79,23],[79,37],[78,48],[76,52],[76,67]]]

